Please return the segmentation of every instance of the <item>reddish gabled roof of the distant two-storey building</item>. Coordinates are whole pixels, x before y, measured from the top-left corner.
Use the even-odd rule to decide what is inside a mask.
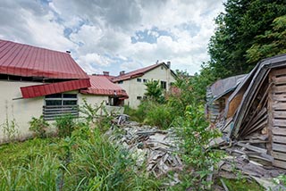
[[[142,69],[139,69],[136,71],[130,71],[130,72],[125,73],[123,75],[117,76],[113,79],[113,81],[117,82],[117,81],[122,81],[122,80],[126,80],[126,79],[134,79],[134,78],[143,76],[147,71],[151,71],[151,70],[156,69],[157,67],[162,66],[162,65],[166,68],[169,68],[167,66],[167,64],[165,64],[164,62],[156,63],[153,65],[147,66],[145,68],[142,68]],[[172,72],[173,76],[176,76],[173,71],[171,71],[171,72]]]

